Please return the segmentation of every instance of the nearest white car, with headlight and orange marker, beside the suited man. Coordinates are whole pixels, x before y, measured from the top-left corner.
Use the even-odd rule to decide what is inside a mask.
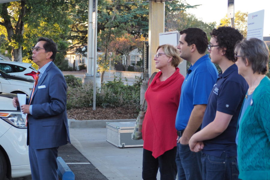
[[[0,179],[31,174],[26,121],[12,106],[15,94],[0,92]]]

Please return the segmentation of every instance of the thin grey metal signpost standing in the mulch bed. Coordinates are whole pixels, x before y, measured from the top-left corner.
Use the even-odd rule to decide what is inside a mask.
[[[95,3],[95,38],[94,38],[94,80],[93,80],[93,110],[96,110],[96,76],[97,76],[97,36],[98,36],[98,0],[94,0]]]

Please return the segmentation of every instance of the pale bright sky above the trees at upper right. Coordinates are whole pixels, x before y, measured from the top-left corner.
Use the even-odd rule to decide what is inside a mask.
[[[226,16],[228,0],[186,0],[190,5],[202,4],[196,9],[187,10],[203,22],[217,22]],[[263,36],[270,36],[270,1],[269,0],[234,0],[234,12],[253,13],[264,9]]]

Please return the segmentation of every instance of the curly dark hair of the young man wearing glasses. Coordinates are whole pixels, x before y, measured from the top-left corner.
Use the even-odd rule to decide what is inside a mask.
[[[225,57],[235,62],[234,46],[243,39],[243,35],[237,29],[228,26],[213,29],[210,35],[216,38],[218,48],[226,48]]]

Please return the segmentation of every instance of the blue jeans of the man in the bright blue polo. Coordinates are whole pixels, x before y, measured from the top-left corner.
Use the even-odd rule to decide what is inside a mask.
[[[177,143],[178,180],[202,180],[201,152],[192,152],[188,144]]]

